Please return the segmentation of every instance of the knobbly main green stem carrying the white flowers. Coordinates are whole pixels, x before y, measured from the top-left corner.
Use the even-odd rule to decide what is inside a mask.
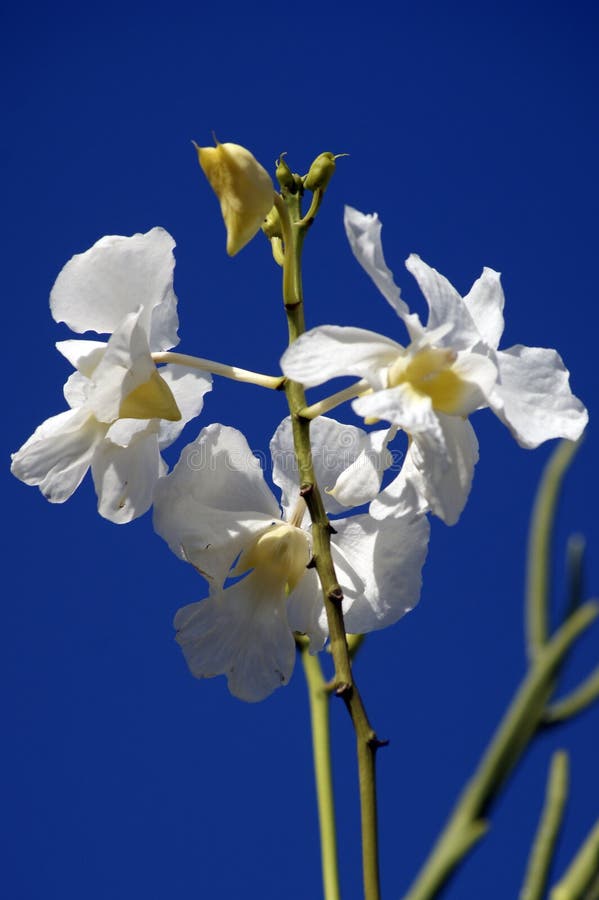
[[[285,193],[275,205],[281,218],[284,243],[283,301],[287,314],[289,343],[305,331],[301,278],[301,251],[306,228],[301,221],[301,197]],[[351,716],[357,742],[360,812],[362,822],[362,871],[365,900],[379,900],[379,865],[375,756],[380,741],[373,730],[355,684],[343,622],[343,594],[331,556],[331,528],[316,482],[310,445],[310,421],[300,415],[306,406],[301,384],[285,382],[285,394],[291,415],[293,442],[297,457],[300,494],[305,499],[312,521],[312,553],[322,586],[329,627],[329,642],[335,663],[336,693],[343,697]]]

